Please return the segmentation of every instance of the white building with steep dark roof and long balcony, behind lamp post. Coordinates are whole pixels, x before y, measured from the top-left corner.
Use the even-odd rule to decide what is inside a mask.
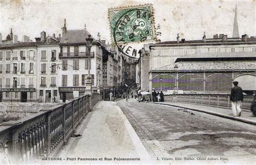
[[[104,86],[103,56],[109,53],[106,50],[99,35],[96,40],[93,38],[91,52],[86,46],[86,38],[90,33],[86,28],[82,30],[67,30],[66,25],[62,28],[63,35],[60,39],[59,62],[61,63],[58,70],[57,87],[59,90],[60,100],[65,101],[78,97],[85,93],[87,76],[91,75],[93,88]],[[90,56],[90,58],[89,58]]]

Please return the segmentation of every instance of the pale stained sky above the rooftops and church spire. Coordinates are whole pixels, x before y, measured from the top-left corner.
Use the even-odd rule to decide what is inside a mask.
[[[0,0],[0,33],[5,39],[10,33],[28,35],[35,41],[40,32],[56,36],[62,33],[64,18],[68,30],[84,28],[97,38],[98,32],[102,40],[111,41],[107,11],[119,6],[152,4],[155,24],[160,25],[161,41],[180,39],[197,40],[203,37],[212,38],[213,34],[227,34],[232,37],[234,10],[237,5],[239,34],[256,36],[256,1],[255,0],[148,0],[148,1],[30,1],[30,0]],[[134,47],[142,47],[136,44]]]

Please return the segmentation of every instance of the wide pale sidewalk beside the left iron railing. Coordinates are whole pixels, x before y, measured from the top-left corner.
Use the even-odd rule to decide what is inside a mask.
[[[116,102],[97,103],[81,124],[80,129],[78,127],[76,134],[82,136],[70,138],[68,144],[58,154],[66,160],[62,163],[138,164],[150,160],[150,155],[142,141]],[[78,160],[78,157],[94,160]],[[114,157],[117,159],[114,160]],[[68,158],[76,158],[76,160],[68,161]],[[135,160],[127,161],[119,158]]]

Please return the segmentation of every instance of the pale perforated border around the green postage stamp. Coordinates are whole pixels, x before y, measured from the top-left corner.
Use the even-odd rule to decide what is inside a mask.
[[[156,35],[156,25],[155,25],[155,19],[154,19],[154,8],[153,8],[153,4],[140,4],[140,5],[129,5],[129,6],[119,6],[119,7],[116,7],[116,8],[110,8],[107,10],[107,18],[109,19],[109,31],[110,31],[110,38],[111,38],[111,45],[124,45],[124,44],[140,44],[140,43],[149,43],[149,42],[152,42],[152,40],[145,40],[145,41],[136,41],[136,42],[129,42],[129,43],[120,43],[120,44],[116,44],[114,43],[113,41],[113,38],[112,38],[112,33],[111,33],[111,25],[110,25],[110,15],[109,15],[109,11],[114,11],[114,10],[122,10],[122,9],[133,9],[133,8],[141,8],[141,7],[144,7],[144,6],[150,6],[151,7],[151,21],[152,21],[152,30],[153,30],[153,41],[157,41],[157,35]]]

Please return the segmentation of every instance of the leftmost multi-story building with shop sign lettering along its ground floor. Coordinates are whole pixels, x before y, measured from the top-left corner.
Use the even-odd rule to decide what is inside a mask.
[[[36,43],[25,35],[18,41],[11,30],[0,44],[0,102],[35,102]]]

